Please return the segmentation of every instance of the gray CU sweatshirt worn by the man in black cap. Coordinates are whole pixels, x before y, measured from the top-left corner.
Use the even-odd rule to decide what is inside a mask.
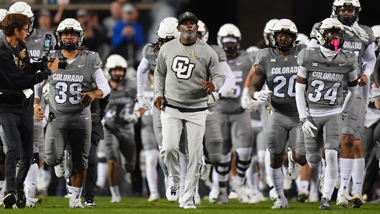
[[[185,46],[190,52],[193,46]],[[165,103],[180,108],[207,107],[208,96],[201,79],[212,80],[214,91],[224,83],[224,75],[215,51],[197,39],[196,58],[185,50],[179,38],[165,43],[158,53],[154,72],[154,95],[164,97]]]

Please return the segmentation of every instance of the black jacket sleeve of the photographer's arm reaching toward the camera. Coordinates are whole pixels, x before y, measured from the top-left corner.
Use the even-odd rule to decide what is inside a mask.
[[[22,72],[5,51],[0,53],[0,62],[2,62],[0,72],[4,75],[5,79],[17,89],[32,88],[37,83],[47,79],[47,72],[45,71],[30,74]]]

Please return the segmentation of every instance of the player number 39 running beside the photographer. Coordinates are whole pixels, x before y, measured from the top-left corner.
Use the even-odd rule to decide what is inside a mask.
[[[65,158],[65,149],[72,159],[71,184],[73,191],[70,208],[84,208],[81,194],[86,177],[87,160],[90,150],[91,113],[90,103],[102,99],[110,92],[107,80],[101,70],[102,62],[98,53],[81,51],[84,30],[75,19],[63,20],[55,31],[60,50],[51,50],[51,57],[66,57],[66,69],[59,69],[48,78],[49,82],[49,124],[45,135],[45,163],[57,166]],[[92,83],[98,89],[90,91]],[[40,104],[42,85],[35,86],[35,104]],[[36,113],[35,113],[36,118]]]

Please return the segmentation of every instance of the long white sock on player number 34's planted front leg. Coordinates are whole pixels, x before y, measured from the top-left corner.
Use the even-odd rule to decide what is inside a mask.
[[[331,200],[332,192],[334,192],[335,183],[338,179],[338,152],[334,149],[325,149],[326,169],[325,169],[325,185],[323,187],[323,197]]]

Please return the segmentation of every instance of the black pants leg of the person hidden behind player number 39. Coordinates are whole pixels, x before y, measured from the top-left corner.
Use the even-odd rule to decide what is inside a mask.
[[[95,187],[96,179],[97,179],[96,147],[98,147],[98,143],[99,143],[99,140],[91,140],[86,182],[84,183],[84,200],[85,201],[94,199],[94,187]]]

